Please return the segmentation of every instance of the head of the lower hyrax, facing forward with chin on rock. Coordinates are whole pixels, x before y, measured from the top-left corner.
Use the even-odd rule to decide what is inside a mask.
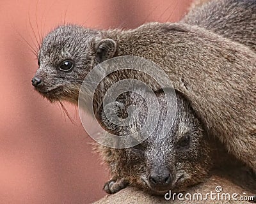
[[[100,150],[103,150],[102,156],[109,164],[113,177],[124,178],[132,186],[140,187],[148,193],[183,191],[186,187],[205,179],[211,168],[209,156],[211,148],[195,112],[180,93],[177,93],[177,113],[173,126],[164,138],[159,138],[157,134],[166,116],[166,99],[163,92],[156,94],[161,112],[155,131],[144,142],[134,147],[127,149],[100,147]],[[140,107],[140,113],[136,114],[138,122],[134,122],[132,126],[114,128],[113,124],[108,124],[109,120],[102,113],[102,121],[107,127],[118,131],[117,135],[134,133],[147,119],[147,105],[141,96],[131,93],[127,98],[129,102],[122,100],[124,103],[122,107],[127,107],[131,105],[127,103],[134,101]],[[124,110],[116,110],[116,112],[117,115],[126,115]]]

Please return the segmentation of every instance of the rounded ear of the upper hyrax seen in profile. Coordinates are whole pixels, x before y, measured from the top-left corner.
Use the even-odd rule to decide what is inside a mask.
[[[95,52],[99,63],[110,59],[115,55],[116,42],[108,38],[100,40],[99,43],[95,45]]]

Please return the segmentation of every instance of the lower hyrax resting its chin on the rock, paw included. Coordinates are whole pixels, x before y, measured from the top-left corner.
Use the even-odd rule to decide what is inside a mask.
[[[142,93],[143,90],[139,92]],[[147,102],[154,103],[154,96],[150,96],[150,93],[148,95],[150,99]],[[180,92],[177,92],[178,110],[175,122],[168,134],[161,138],[168,106],[163,91],[156,92],[156,96],[161,110],[158,124],[155,131],[140,145],[113,149],[95,143],[95,149],[100,152],[111,171],[112,179],[104,186],[107,193],[116,193],[127,186],[143,189],[150,194],[161,195],[169,190],[179,193],[218,174],[256,193],[253,173],[230,156],[218,140],[207,135],[189,102]],[[116,112],[121,118],[126,117],[129,106],[135,104],[140,107],[138,115],[130,115],[130,119],[135,118],[135,122],[131,126],[113,127],[104,112],[101,113],[100,120],[105,126],[112,126],[115,135],[138,134],[138,129],[148,117],[146,101],[141,95],[131,92],[125,93],[116,103],[118,106],[112,112]],[[106,140],[104,135],[102,140]]]

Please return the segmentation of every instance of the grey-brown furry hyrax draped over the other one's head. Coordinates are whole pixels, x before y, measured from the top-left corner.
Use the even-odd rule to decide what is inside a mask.
[[[112,47],[108,39],[115,41]],[[107,52],[99,57],[97,51],[104,45],[108,45]],[[189,99],[205,131],[256,170],[256,54],[196,25],[150,23],[128,31],[95,31],[76,25],[58,27],[45,37],[40,48],[40,68],[35,76],[42,78],[44,84],[36,90],[51,101],[77,104],[81,83],[93,66],[122,55],[145,57],[159,64],[175,89]],[[63,59],[76,62],[71,72],[58,69]],[[120,80],[120,76],[151,82],[143,74],[124,71],[110,75],[102,90]],[[150,85],[155,91],[159,89],[153,82]],[[101,99],[100,95],[95,98],[96,111]]]

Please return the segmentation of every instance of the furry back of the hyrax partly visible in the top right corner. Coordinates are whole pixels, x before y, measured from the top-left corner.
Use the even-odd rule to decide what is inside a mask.
[[[212,0],[196,5],[182,22],[204,27],[256,51],[255,0]]]

